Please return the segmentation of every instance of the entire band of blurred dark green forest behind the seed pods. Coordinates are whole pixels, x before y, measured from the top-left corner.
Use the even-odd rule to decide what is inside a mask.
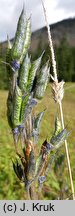
[[[42,60],[42,65],[50,58],[49,46],[44,47],[45,53]],[[37,53],[33,54],[32,60],[37,59],[42,53],[41,43],[38,45]],[[31,51],[30,51],[31,52]],[[64,37],[59,46],[55,46],[55,54],[57,61],[57,71],[59,80],[66,82],[75,81],[75,47],[69,45],[67,38]],[[50,58],[51,59],[51,58]],[[0,44],[0,89],[8,89],[6,66],[2,63],[6,61],[6,53],[2,50]],[[52,66],[51,66],[52,73]]]

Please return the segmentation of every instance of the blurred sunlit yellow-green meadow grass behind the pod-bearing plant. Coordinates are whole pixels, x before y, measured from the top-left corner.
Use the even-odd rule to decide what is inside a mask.
[[[24,186],[16,177],[12,166],[12,160],[15,158],[15,148],[6,118],[7,95],[7,91],[0,91],[0,199],[26,199]],[[40,151],[40,145],[45,138],[48,137],[49,140],[51,134],[53,134],[56,105],[54,105],[51,96],[50,85],[47,87],[45,97],[36,107],[36,114],[45,108],[47,110],[41,125],[41,134],[39,145],[36,148],[36,155]],[[68,131],[71,131],[68,146],[75,187],[75,83],[67,83],[65,85],[63,110],[65,110],[64,117]],[[44,183],[42,193],[40,194],[39,192],[39,199],[49,200],[59,199],[60,197],[66,199],[71,195],[67,161],[64,155],[65,149],[62,146]]]

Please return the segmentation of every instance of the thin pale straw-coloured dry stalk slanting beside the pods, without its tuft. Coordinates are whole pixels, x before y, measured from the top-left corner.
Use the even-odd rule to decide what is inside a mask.
[[[46,13],[46,9],[45,9],[43,0],[41,0],[41,2],[42,2],[43,10],[44,10],[45,21],[46,21],[46,26],[47,26],[47,31],[48,31],[48,40],[49,40],[49,47],[50,47],[51,56],[52,56],[52,66],[53,66],[54,81],[56,83],[58,83],[57,70],[56,70],[56,61],[55,61],[53,43],[52,43],[52,38],[51,38],[50,26],[48,24],[47,13]],[[62,110],[61,101],[59,102],[59,107],[60,107],[62,128],[64,129],[64,118],[63,118],[63,110]],[[69,158],[69,151],[68,151],[67,141],[65,141],[65,149],[66,149],[68,170],[69,170],[69,176],[70,176],[71,190],[72,190],[73,200],[75,200],[75,197],[74,197],[74,185],[73,185],[73,179],[72,179],[72,171],[71,171],[71,166],[70,166],[70,158]]]

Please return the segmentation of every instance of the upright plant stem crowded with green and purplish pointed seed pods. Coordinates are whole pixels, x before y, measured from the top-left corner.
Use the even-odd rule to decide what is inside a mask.
[[[7,73],[9,93],[7,99],[7,118],[11,127],[17,157],[13,161],[13,169],[17,177],[24,183],[27,199],[38,199],[36,185],[41,190],[50,171],[57,151],[69,132],[61,129],[58,116],[55,121],[54,133],[50,140],[44,138],[39,145],[40,124],[44,117],[41,110],[36,116],[33,109],[44,97],[49,78],[49,60],[42,66],[43,54],[32,62],[29,54],[31,43],[31,18],[26,18],[23,8],[15,34],[13,45],[8,38]],[[52,154],[50,154],[52,152]]]

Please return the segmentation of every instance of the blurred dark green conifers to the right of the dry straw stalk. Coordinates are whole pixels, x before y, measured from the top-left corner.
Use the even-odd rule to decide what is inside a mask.
[[[64,37],[56,48],[56,61],[59,80],[75,81],[75,48],[71,47]]]

